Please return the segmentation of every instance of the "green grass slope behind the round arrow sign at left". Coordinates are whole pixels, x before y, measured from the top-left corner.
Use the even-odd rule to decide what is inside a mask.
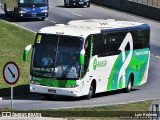
[[[2,71],[6,62],[14,61],[20,69],[20,78],[16,85],[29,83],[29,61],[23,61],[23,50],[33,44],[35,33],[0,20],[0,89],[10,87],[4,82]]]

